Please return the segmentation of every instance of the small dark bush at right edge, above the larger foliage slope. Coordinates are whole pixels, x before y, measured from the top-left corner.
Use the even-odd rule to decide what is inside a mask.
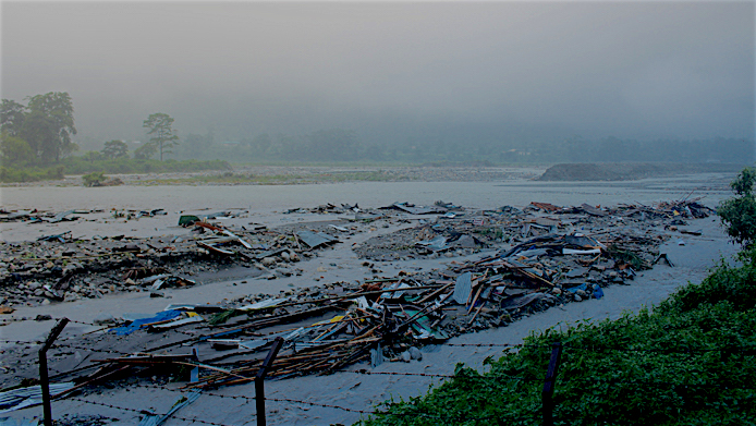
[[[756,168],[747,167],[741,171],[730,186],[737,195],[722,202],[717,214],[727,226],[727,233],[736,243],[751,247],[756,242]]]

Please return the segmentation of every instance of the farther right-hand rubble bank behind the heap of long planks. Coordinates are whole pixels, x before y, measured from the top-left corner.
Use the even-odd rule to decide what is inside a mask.
[[[407,207],[393,204],[386,209],[436,212],[437,218],[420,220],[420,224],[388,235],[375,236],[354,248],[361,257],[370,260],[407,260],[466,256],[484,248],[501,248],[520,244],[539,235],[585,234],[601,235],[610,245],[622,245],[650,263],[666,234],[658,227],[685,224],[685,218],[704,218],[714,214],[697,202],[661,203],[656,207],[621,205],[600,208],[583,204],[580,207],[559,207],[548,203],[532,203],[523,210],[502,206],[496,210],[474,210],[440,202],[435,208]],[[676,231],[676,228],[672,229]],[[639,245],[633,244],[637,242]],[[648,251],[647,246],[650,246]],[[605,247],[606,248],[606,247]],[[637,266],[637,264],[636,264]]]

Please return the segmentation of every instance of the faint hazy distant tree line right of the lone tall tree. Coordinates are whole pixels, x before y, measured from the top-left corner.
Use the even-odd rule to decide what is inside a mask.
[[[504,137],[502,137],[503,139]],[[557,163],[557,162],[718,162],[754,161],[754,142],[747,138],[625,139],[602,137],[523,138],[515,141],[459,141],[402,138],[366,142],[352,130],[330,129],[304,135],[263,133],[232,142],[212,133],[190,134],[176,158],[257,161],[369,161],[427,165]]]

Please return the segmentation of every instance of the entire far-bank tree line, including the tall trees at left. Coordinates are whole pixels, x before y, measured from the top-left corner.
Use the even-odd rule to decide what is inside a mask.
[[[0,155],[3,165],[46,166],[78,149],[74,108],[65,92],[25,98],[26,105],[2,99]],[[326,129],[303,135],[260,133],[235,141],[217,141],[215,131],[190,133],[183,141],[174,120],[156,112],[143,122],[148,141],[133,151],[135,159],[168,155],[175,159],[259,161],[370,161],[409,163],[553,163],[553,162],[730,162],[754,161],[753,138],[637,141],[613,136],[588,139],[562,132],[533,131],[511,125],[449,124],[444,127],[401,127],[361,135],[351,129]],[[367,136],[367,139],[364,137]],[[83,158],[132,158],[129,144],[112,139]]]

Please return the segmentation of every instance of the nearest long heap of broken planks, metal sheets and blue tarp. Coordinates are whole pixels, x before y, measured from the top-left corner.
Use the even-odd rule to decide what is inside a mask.
[[[410,362],[422,357],[424,345],[505,326],[556,304],[601,297],[601,287],[611,280],[592,280],[589,270],[600,271],[602,278],[612,277],[613,271],[613,282],[618,277],[632,279],[632,267],[613,261],[603,247],[585,236],[537,238],[507,253],[454,263],[447,270],[400,272],[391,278],[283,291],[276,296],[256,294],[223,305],[169,305],[153,317],[130,320],[107,332],[119,337],[108,339],[118,342],[119,350],[173,333],[159,339],[169,341],[158,346],[159,352],[142,350],[92,362],[102,367],[103,375],[158,365],[172,372],[166,364],[195,366],[198,373],[187,388],[254,380],[276,338],[285,343],[271,377],[329,373],[361,361],[374,366]],[[583,265],[585,273],[570,273],[568,261]],[[583,280],[568,287],[573,282],[569,277]],[[156,287],[168,279],[160,276],[143,281]],[[191,353],[186,345],[193,348]],[[94,378],[87,376],[87,380]]]

